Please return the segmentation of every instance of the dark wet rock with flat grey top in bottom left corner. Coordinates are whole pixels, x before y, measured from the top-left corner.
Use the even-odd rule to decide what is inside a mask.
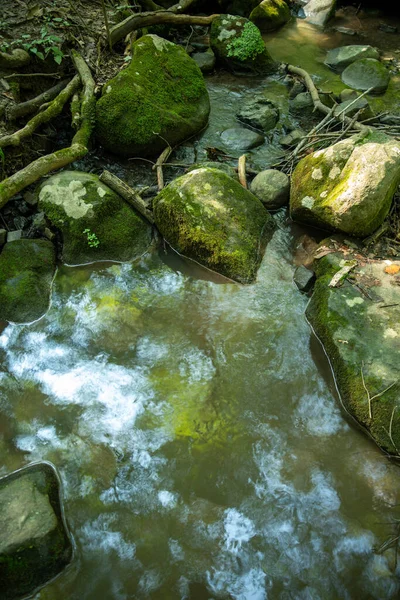
[[[55,469],[39,463],[0,479],[2,599],[30,596],[71,558]]]

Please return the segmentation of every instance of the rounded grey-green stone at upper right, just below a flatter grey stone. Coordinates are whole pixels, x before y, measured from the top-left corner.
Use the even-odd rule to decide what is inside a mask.
[[[342,73],[342,81],[360,92],[371,89],[371,93],[384,94],[390,82],[390,75],[378,60],[363,58],[346,67]]]

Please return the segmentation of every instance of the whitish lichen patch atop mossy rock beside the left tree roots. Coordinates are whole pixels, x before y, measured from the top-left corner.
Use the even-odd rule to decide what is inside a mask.
[[[68,187],[62,187],[57,183],[45,185],[40,191],[39,200],[62,206],[71,219],[81,219],[93,208],[93,204],[83,201],[84,196],[86,196],[85,186],[81,181],[74,180],[70,181]]]

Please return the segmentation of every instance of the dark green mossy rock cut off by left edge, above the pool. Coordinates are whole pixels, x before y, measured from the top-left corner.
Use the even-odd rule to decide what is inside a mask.
[[[47,240],[9,242],[0,254],[0,319],[28,323],[42,317],[50,303],[56,268]]]

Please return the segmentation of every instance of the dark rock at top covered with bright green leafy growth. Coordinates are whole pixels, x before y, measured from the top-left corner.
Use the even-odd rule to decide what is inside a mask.
[[[220,15],[214,19],[210,44],[217,59],[235,73],[267,74],[276,70],[260,30],[243,17]]]

